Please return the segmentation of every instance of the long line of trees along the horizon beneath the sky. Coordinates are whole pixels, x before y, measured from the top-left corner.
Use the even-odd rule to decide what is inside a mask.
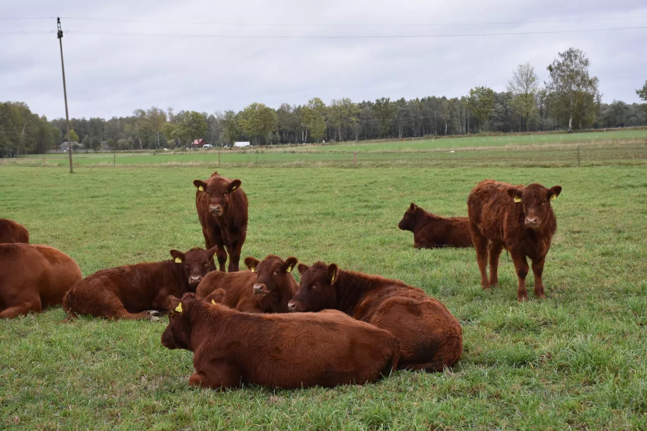
[[[303,105],[278,109],[254,102],[242,111],[213,114],[172,108],[135,109],[133,115],[72,118],[71,140],[87,150],[182,148],[194,139],[215,146],[237,140],[252,144],[415,138],[481,132],[531,132],[647,125],[647,104],[601,102],[598,78],[589,75],[584,52],[571,48],[548,65],[549,81],[539,82],[526,63],[512,72],[506,91],[487,86],[460,98],[388,97],[326,105],[314,97]],[[647,102],[647,82],[636,93]],[[0,104],[0,154],[44,153],[67,141],[64,118],[51,122],[17,102]]]

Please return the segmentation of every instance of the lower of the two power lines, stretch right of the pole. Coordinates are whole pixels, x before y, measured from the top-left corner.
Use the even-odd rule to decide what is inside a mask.
[[[100,36],[147,36],[175,38],[217,38],[217,39],[416,39],[416,38],[466,38],[482,36],[521,36],[525,34],[560,34],[604,32],[617,30],[640,30],[643,27],[589,28],[585,30],[551,30],[544,32],[514,32],[514,33],[471,33],[471,34],[342,34],[342,35],[269,35],[269,34],[197,34],[197,33],[134,33],[134,32],[95,32],[85,30],[67,30],[69,34],[87,34]],[[2,33],[0,33],[2,34]]]

